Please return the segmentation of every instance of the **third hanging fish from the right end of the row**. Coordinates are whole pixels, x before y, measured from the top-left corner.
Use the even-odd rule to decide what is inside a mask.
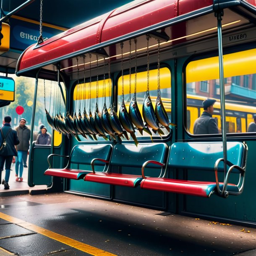
[[[144,122],[142,120],[141,112],[138,108],[136,94],[133,94],[133,97],[130,102],[129,117],[131,118],[132,123],[136,126],[141,135],[142,131],[145,131],[149,133],[150,136],[152,136],[151,131],[149,130],[149,128],[145,127]]]

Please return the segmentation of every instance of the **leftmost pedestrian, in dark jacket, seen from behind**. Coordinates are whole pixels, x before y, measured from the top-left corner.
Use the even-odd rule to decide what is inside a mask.
[[[2,167],[5,162],[5,179],[3,179],[2,184],[5,189],[9,189],[10,186],[8,184],[10,178],[10,166],[13,161],[13,156],[17,156],[17,151],[15,146],[20,143],[17,131],[11,128],[10,122],[12,118],[9,115],[6,115],[4,118],[4,126],[0,128],[3,132],[3,136],[6,141],[5,149],[0,151],[0,166]],[[2,136],[2,133],[1,135]],[[0,180],[1,180],[1,172],[0,172]]]

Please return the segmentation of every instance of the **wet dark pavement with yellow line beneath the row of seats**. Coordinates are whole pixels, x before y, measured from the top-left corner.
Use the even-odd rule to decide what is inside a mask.
[[[69,193],[26,194],[0,198],[0,247],[19,256],[255,256],[256,229]]]

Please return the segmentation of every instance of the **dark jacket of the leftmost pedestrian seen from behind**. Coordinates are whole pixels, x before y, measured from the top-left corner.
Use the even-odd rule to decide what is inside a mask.
[[[11,131],[8,133],[8,131],[11,129]],[[15,131],[13,128],[10,127],[9,123],[5,123],[4,126],[2,127],[3,130],[3,136],[5,136],[7,133],[7,137],[5,138],[5,141],[7,143],[6,145],[6,154],[5,156],[17,156],[17,151],[15,149],[15,145],[18,145],[20,143],[18,136],[17,136],[17,131]],[[2,136],[2,135],[0,135]],[[0,155],[2,155],[0,153]]]

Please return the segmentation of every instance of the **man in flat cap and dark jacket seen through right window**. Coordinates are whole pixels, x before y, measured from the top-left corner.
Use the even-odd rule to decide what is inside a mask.
[[[204,112],[196,119],[194,123],[194,134],[216,134],[219,133],[219,129],[215,119],[212,117],[213,105],[216,99],[205,99],[203,101]]]

